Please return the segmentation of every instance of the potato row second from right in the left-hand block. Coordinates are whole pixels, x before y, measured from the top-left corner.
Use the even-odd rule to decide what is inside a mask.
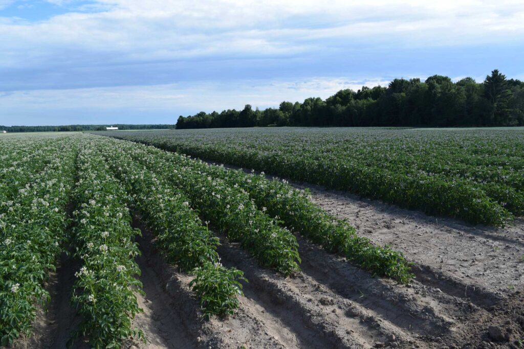
[[[286,275],[300,270],[297,239],[257,209],[244,189],[171,161],[176,156],[172,153],[154,147],[146,149],[133,142],[113,141],[121,143],[119,147],[134,160],[158,176],[165,176],[171,185],[187,195],[204,220],[224,232],[228,239],[240,242],[261,265]]]

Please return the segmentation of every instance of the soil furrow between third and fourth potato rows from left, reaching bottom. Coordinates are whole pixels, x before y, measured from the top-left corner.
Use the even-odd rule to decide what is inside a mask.
[[[301,347],[369,347],[393,334],[311,277],[285,278],[260,268],[236,245],[222,240],[218,249],[222,261],[244,271],[249,280],[246,296],[292,328]]]

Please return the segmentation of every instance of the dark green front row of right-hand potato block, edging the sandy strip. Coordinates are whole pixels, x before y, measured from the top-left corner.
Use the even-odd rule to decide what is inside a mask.
[[[187,150],[182,149],[183,152]],[[513,218],[509,211],[483,190],[461,178],[450,181],[440,175],[390,171],[382,166],[370,166],[358,161],[347,163],[338,157],[294,157],[281,152],[263,157],[249,150],[188,153],[202,159],[267,171],[296,181],[347,190],[399,206],[421,209],[431,215],[462,218],[470,223],[504,226]]]

